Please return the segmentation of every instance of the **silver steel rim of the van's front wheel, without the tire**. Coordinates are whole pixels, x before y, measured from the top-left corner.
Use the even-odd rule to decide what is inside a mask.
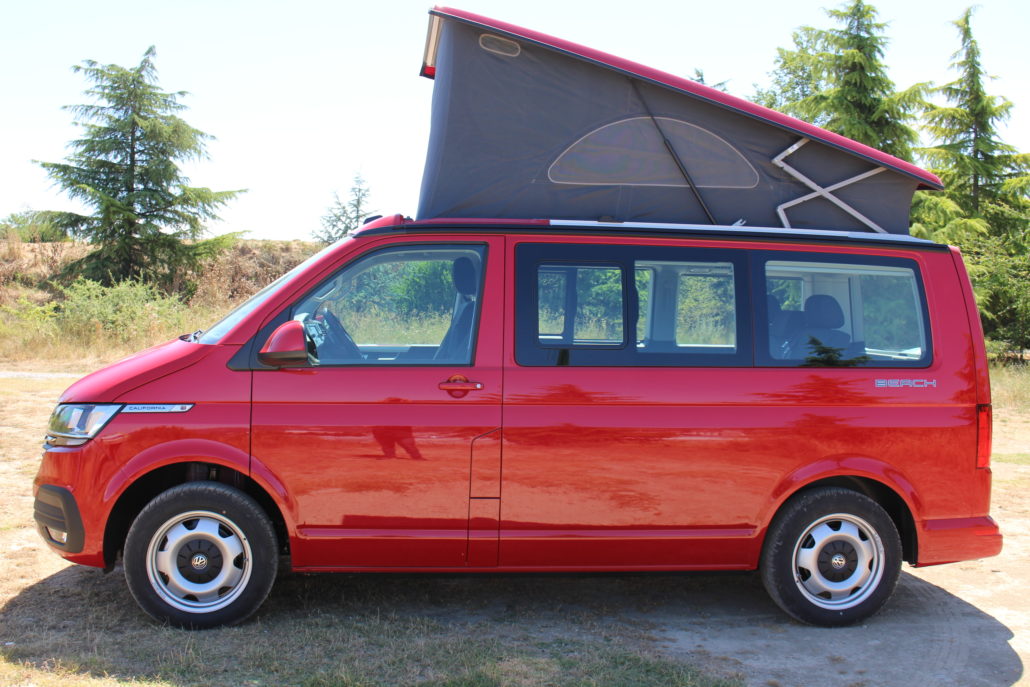
[[[191,511],[163,524],[146,551],[146,574],[169,606],[187,613],[226,608],[250,579],[250,543],[224,515]]]

